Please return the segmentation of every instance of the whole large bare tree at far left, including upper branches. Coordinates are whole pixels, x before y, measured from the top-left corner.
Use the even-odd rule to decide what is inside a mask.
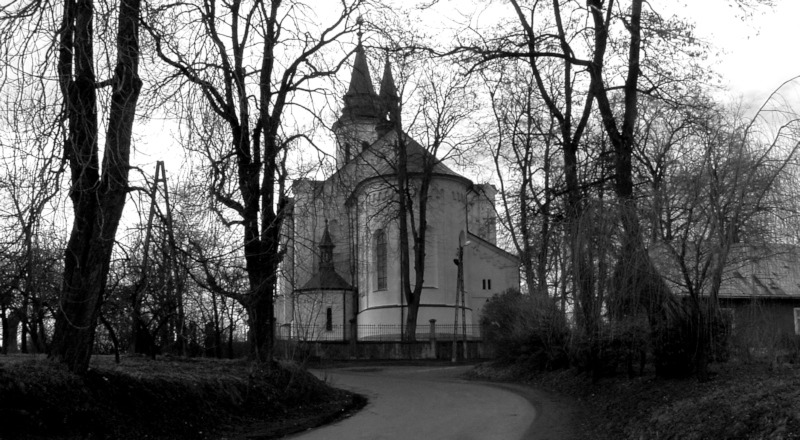
[[[116,26],[116,47],[99,44],[96,32],[111,33],[111,27],[95,26],[103,12],[92,0],[66,0],[58,7],[46,2],[18,2],[2,11],[4,48],[7,59],[24,60],[45,52],[42,64],[21,62],[28,75],[55,74],[61,93],[63,124],[53,135],[63,134],[63,158],[69,164],[70,198],[73,204],[72,232],[64,259],[62,297],[56,316],[50,357],[75,372],[89,366],[95,326],[109,271],[117,225],[128,191],[131,136],[141,89],[139,65],[138,0],[122,0],[109,14]],[[102,22],[103,24],[106,21]],[[50,32],[54,34],[48,35]],[[8,37],[8,38],[5,38]],[[42,45],[46,41],[48,44]],[[55,42],[56,44],[52,44]],[[13,46],[12,46],[13,45]],[[39,48],[44,47],[44,51]],[[96,50],[107,59],[116,57],[98,79],[103,64]],[[7,61],[6,61],[7,62]],[[34,71],[34,69],[39,69]],[[46,81],[45,81],[46,83]],[[109,87],[108,103],[102,104],[98,90]],[[49,96],[47,84],[43,96]],[[98,120],[104,112],[107,122]],[[100,142],[105,143],[100,162]]]

